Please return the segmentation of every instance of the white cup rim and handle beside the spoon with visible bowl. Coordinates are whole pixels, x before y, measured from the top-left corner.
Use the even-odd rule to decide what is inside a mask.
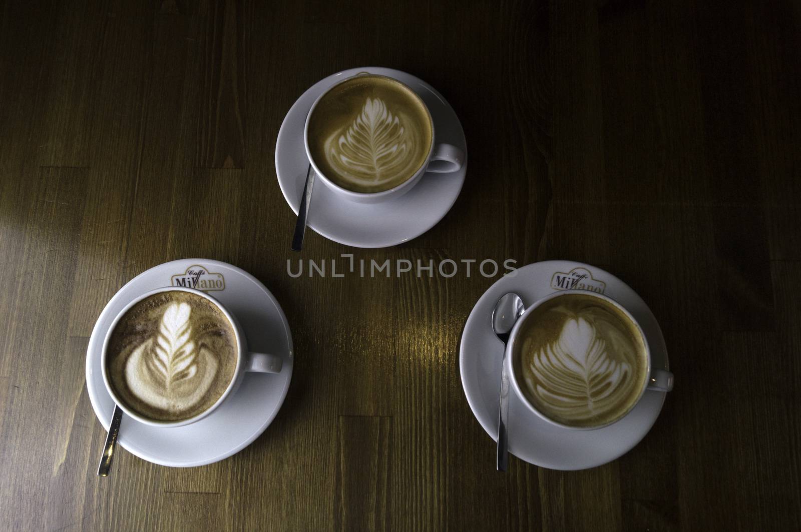
[[[528,320],[529,316],[532,315],[535,309],[537,309],[541,304],[544,304],[546,301],[552,300],[554,297],[565,296],[566,294],[579,294],[582,296],[592,296],[596,297],[599,300],[604,300],[606,303],[611,304],[615,308],[618,308],[620,312],[622,312],[626,317],[631,320],[631,323],[637,328],[640,337],[642,337],[642,344],[645,346],[645,356],[646,356],[646,375],[647,378],[643,381],[642,387],[638,392],[637,399],[631,403],[626,412],[623,413],[620,417],[615,419],[614,421],[610,421],[604,425],[594,425],[589,427],[582,427],[582,426],[575,426],[575,425],[564,425],[559,423],[558,421],[554,421],[550,417],[548,417],[545,413],[542,413],[535,405],[529,401],[528,397],[525,396],[523,393],[523,386],[525,383],[523,382],[523,378],[521,375],[518,375],[515,372],[515,365],[514,361],[512,360],[513,353],[515,352],[514,346],[517,341],[518,332],[520,332],[521,327],[525,324],[526,320]],[[618,421],[622,420],[624,417],[628,416],[634,408],[638,405],[639,401],[642,400],[642,396],[645,394],[646,389],[658,390],[662,392],[670,392],[673,389],[673,373],[666,371],[664,369],[657,369],[651,365],[651,353],[650,353],[650,345],[648,344],[648,337],[646,337],[645,332],[642,331],[642,327],[638,321],[631,315],[631,312],[626,310],[622,304],[619,304],[617,301],[613,300],[609,296],[604,296],[602,294],[598,294],[596,292],[590,292],[587,290],[562,290],[559,292],[554,292],[541,298],[540,300],[535,301],[529,308],[525,309],[523,315],[515,322],[514,327],[512,328],[512,332],[509,334],[509,341],[506,343],[506,353],[504,357],[504,364],[506,365],[506,371],[509,375],[509,381],[512,384],[512,388],[514,389],[514,393],[517,394],[517,397],[520,398],[520,401],[526,405],[529,410],[531,410],[534,414],[541,419],[549,422],[551,425],[556,425],[565,429],[571,430],[594,430],[594,429],[602,429],[605,426],[612,425],[613,423],[617,423]]]

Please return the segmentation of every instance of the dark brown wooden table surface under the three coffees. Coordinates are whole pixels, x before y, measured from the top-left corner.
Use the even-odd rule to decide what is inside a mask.
[[[798,2],[2,4],[0,529],[801,528]],[[308,232],[294,254],[281,121],[318,79],[372,65],[453,105],[465,186],[405,244]],[[658,317],[674,392],[610,464],[499,474],[457,366],[497,278],[288,275],[341,253],[598,265]],[[184,257],[276,295],[288,397],[227,460],[121,451],[97,478],[93,324]]]

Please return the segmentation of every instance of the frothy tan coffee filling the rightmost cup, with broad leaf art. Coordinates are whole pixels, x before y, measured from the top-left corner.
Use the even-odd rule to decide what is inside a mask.
[[[517,335],[513,371],[525,384],[525,397],[563,425],[616,421],[634,406],[645,385],[642,334],[624,312],[601,298],[556,296],[526,316]]]

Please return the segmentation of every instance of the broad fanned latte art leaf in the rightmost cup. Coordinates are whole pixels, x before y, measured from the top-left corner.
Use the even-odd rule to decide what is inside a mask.
[[[593,324],[567,320],[556,341],[534,353],[530,366],[537,398],[570,419],[589,419],[614,408],[629,392],[632,368],[615,360]]]

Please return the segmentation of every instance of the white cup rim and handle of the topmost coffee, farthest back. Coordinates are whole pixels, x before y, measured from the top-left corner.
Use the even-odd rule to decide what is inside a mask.
[[[314,162],[312,158],[312,151],[309,148],[308,142],[308,124],[309,119],[312,117],[312,113],[314,112],[317,104],[320,103],[320,99],[323,99],[325,95],[328,94],[334,87],[340,85],[340,83],[345,83],[350,79],[356,78],[360,75],[371,75],[376,77],[382,78],[389,78],[397,83],[400,83],[403,87],[407,88],[411,94],[417,98],[429,116],[429,122],[431,123],[431,146],[429,147],[429,155],[425,159],[425,163],[420,167],[420,169],[415,172],[409,179],[406,179],[403,183],[400,183],[396,187],[389,188],[388,190],[380,191],[380,192],[354,192],[348,190],[347,188],[340,187],[338,184],[334,183],[331,179],[328,179],[323,171],[320,170],[320,167]],[[435,174],[445,174],[450,173],[453,171],[458,171],[461,169],[462,165],[465,163],[465,152],[461,151],[458,147],[453,146],[452,144],[447,143],[435,143],[434,140],[436,139],[436,131],[434,129],[434,122],[431,118],[431,111],[429,111],[429,107],[425,105],[425,102],[417,95],[415,91],[405,83],[400,82],[400,80],[395,78],[390,78],[386,75],[380,74],[372,74],[370,72],[360,72],[357,75],[350,76],[348,78],[342,79],[337,83],[334,83],[331,87],[328,87],[323,94],[317,96],[317,99],[312,103],[311,109],[308,111],[308,115],[306,115],[306,125],[304,126],[304,146],[306,147],[306,156],[308,157],[309,163],[312,165],[316,175],[320,178],[320,180],[325,183],[326,186],[331,188],[332,191],[336,192],[337,195],[340,195],[342,198],[346,200],[356,201],[362,204],[377,204],[381,201],[389,200],[391,198],[397,198],[401,195],[404,195],[406,192],[410,191],[412,187],[420,181],[421,177],[426,173],[435,173]]]

